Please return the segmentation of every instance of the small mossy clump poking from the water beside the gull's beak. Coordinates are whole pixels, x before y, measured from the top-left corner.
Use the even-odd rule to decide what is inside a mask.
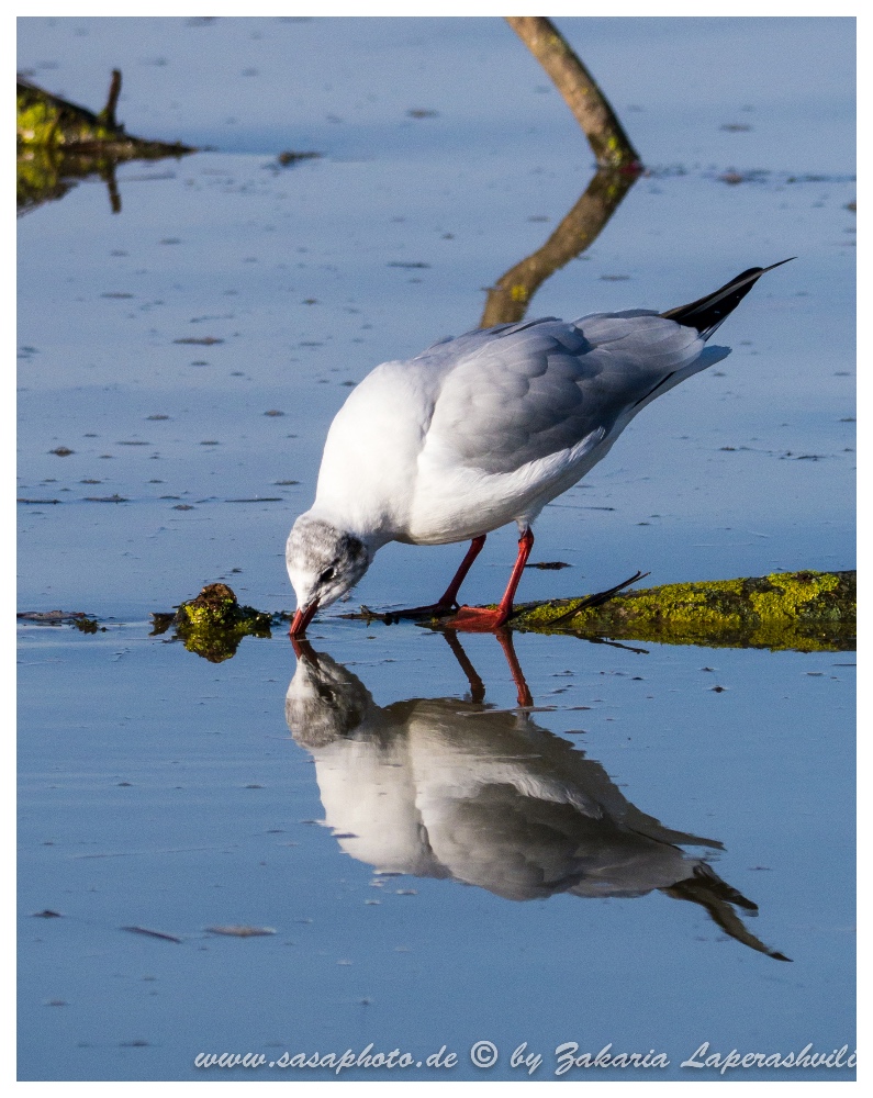
[[[240,606],[226,583],[209,583],[197,598],[182,603],[176,614],[153,614],[152,636],[175,627],[189,652],[210,663],[236,654],[243,637],[269,637],[272,617],[253,606]]]

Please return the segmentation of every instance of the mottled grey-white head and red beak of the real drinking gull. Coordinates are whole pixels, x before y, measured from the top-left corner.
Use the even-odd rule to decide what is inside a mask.
[[[284,558],[298,596],[291,636],[301,637],[318,607],[355,586],[370,567],[371,554],[360,538],[307,512],[291,528]]]

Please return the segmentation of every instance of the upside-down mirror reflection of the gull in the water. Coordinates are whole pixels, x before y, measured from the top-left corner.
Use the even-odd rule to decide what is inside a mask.
[[[380,873],[448,877],[505,899],[645,896],[704,907],[731,938],[788,960],[746,928],[757,906],[685,845],[723,849],[636,808],[594,759],[538,725],[508,631],[499,640],[519,708],[488,706],[454,634],[471,701],[379,706],[363,683],[306,641],[286,698],[291,733],[313,757],[325,824]],[[527,708],[526,708],[527,707]]]

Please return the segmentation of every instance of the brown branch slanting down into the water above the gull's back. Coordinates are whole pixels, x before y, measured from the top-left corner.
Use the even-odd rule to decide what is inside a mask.
[[[639,171],[640,158],[594,77],[545,15],[506,15],[506,22],[551,77],[603,168]]]

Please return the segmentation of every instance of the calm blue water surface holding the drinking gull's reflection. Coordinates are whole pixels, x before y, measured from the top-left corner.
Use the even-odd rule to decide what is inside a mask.
[[[652,171],[528,315],[665,309],[797,259],[719,332],[724,363],[546,508],[535,557],[572,567],[522,597],[852,568],[854,22],[559,24]],[[545,1079],[560,1044],[612,1042],[670,1064],[597,1078],[697,1082],[721,1077],[680,1066],[704,1042],[851,1052],[853,653],[518,636],[525,715],[471,637],[482,708],[443,637],[337,617],[428,601],[458,546],[380,552],[314,664],[281,631],[222,664],[149,636],[217,579],[293,608],[284,538],[347,383],[474,327],[591,177],[548,78],[500,20],[19,20],[52,91],[98,109],[113,66],[131,133],[213,148],[121,168],[120,214],[89,180],[19,223],[19,496],[59,501],[20,505],[19,607],[107,630],[21,629],[20,1076],[245,1077],[194,1057],[372,1042],[423,1066],[342,1078],[513,1079],[527,1042]],[[514,554],[489,537],[465,597]],[[701,859],[758,907],[732,937],[665,890]],[[457,1064],[428,1066],[443,1045]]]

